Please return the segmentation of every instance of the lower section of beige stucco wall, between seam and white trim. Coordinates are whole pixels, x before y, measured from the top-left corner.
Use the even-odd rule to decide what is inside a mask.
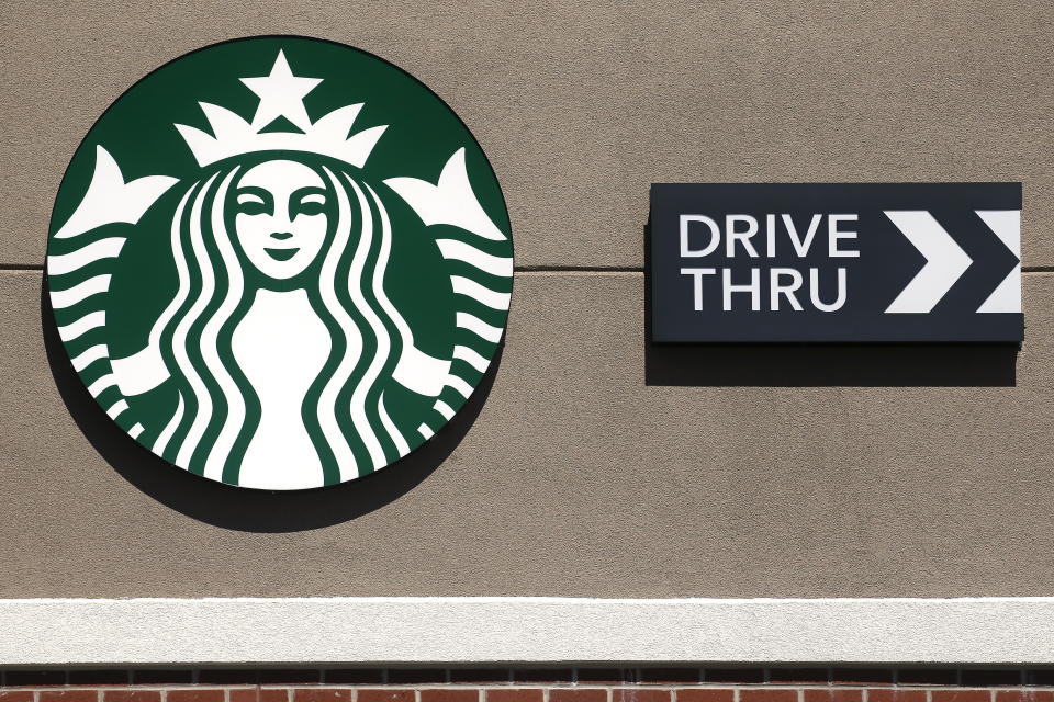
[[[0,274],[5,597],[1051,595],[1051,274],[1025,276],[1017,386],[948,388],[648,386],[642,275],[522,274],[447,461],[289,533],[192,519],[106,464],[48,372],[40,283]]]

